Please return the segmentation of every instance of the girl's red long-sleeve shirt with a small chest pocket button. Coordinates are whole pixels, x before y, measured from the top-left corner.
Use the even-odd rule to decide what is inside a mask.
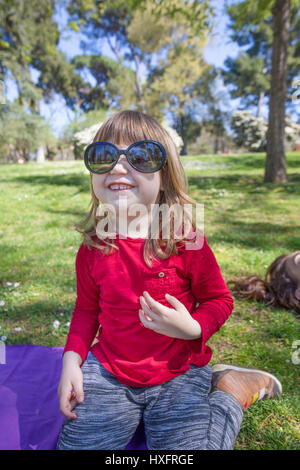
[[[119,251],[111,255],[81,244],[77,299],[64,352],[75,351],[85,361],[91,350],[121,383],[136,387],[166,382],[190,363],[208,364],[212,350],[206,342],[231,314],[233,299],[203,237],[201,249],[183,246],[178,255],[154,260],[152,268],[143,258],[144,239],[117,236]],[[180,300],[200,323],[201,338],[170,338],[146,328],[138,314],[144,290],[170,308],[166,293]],[[98,342],[91,347],[99,325]]]

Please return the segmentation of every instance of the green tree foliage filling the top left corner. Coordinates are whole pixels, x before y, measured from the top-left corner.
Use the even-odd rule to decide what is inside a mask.
[[[54,1],[0,0],[0,79],[10,74],[18,87],[19,103],[36,112],[41,97],[49,100],[53,92],[61,93],[74,107],[76,90],[84,83],[57,49],[54,8]],[[40,72],[37,84],[31,79],[30,67]]]

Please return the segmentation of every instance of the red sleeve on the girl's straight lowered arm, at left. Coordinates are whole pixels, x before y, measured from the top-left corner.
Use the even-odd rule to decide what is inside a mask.
[[[99,288],[90,275],[91,251],[81,244],[76,256],[77,298],[63,354],[75,351],[84,362],[99,328]],[[82,362],[82,363],[83,363]]]

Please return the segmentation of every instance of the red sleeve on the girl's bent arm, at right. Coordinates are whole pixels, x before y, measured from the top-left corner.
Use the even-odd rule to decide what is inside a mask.
[[[234,302],[222,277],[215,255],[203,234],[203,246],[190,252],[191,290],[199,303],[191,316],[199,322],[202,336],[188,342],[193,353],[203,353],[205,344],[231,314]]]

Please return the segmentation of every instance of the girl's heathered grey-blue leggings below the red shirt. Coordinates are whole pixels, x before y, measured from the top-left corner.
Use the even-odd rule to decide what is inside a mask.
[[[141,419],[149,450],[233,449],[243,411],[211,387],[211,367],[190,369],[152,387],[121,384],[90,352],[82,366],[84,402],[65,418],[58,450],[125,449]]]

